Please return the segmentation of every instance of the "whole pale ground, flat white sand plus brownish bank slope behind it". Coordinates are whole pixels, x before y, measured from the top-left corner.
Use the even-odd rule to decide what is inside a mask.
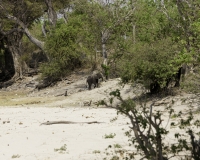
[[[121,90],[123,98],[134,98],[143,92],[143,88],[140,85],[122,87],[116,78],[88,90],[87,76],[88,72],[77,71],[39,91],[34,89],[37,76],[26,77],[1,89],[0,159],[108,160],[113,156],[123,159],[134,153],[139,160],[141,157],[125,136],[130,129],[130,120],[117,114],[115,109],[97,107],[96,104],[102,99],[108,100],[109,93],[115,89]],[[190,109],[200,109],[199,95],[183,92],[157,99],[154,109],[163,110],[171,102],[176,111],[185,115]],[[150,103],[148,101],[147,105]],[[42,124],[48,121],[72,123]],[[169,120],[167,115],[163,117],[163,125],[170,130],[165,137],[167,143],[173,143],[174,133],[180,133],[178,127],[170,127],[173,121],[175,119]]]

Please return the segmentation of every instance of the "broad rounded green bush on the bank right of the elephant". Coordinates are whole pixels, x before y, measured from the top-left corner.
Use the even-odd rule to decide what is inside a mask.
[[[151,44],[140,43],[120,62],[122,82],[139,80],[147,89],[151,90],[151,85],[163,89],[189,60],[189,54],[178,52],[169,38]]]

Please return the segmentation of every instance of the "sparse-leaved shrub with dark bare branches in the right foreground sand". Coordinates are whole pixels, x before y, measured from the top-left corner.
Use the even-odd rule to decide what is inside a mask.
[[[132,99],[124,100],[119,90],[111,92],[110,96],[112,99],[112,101],[109,101],[110,104],[105,101],[101,101],[101,104],[117,109],[118,112],[130,119],[131,129],[126,132],[126,135],[130,138],[130,145],[136,147],[138,153],[143,155],[144,158],[168,160],[170,157],[184,157],[189,153],[195,160],[200,158],[200,141],[196,138],[200,132],[192,130],[192,127],[200,126],[200,120],[198,117],[194,117],[191,110],[186,117],[181,111],[178,114],[175,113],[172,107],[174,103],[166,105],[164,113],[168,113],[169,119],[172,115],[173,118],[178,118],[177,121],[167,125],[176,126],[183,130],[175,133],[176,142],[169,144],[164,141],[165,136],[169,133],[167,126],[163,127],[162,125],[164,113],[161,110],[153,111],[155,102],[152,102],[150,106],[141,103],[138,107]],[[120,100],[121,104],[112,106],[114,98]]]

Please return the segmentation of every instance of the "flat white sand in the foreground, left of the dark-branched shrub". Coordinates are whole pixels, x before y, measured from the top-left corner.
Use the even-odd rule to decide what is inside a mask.
[[[0,108],[0,159],[19,155],[23,160],[94,160],[106,157],[105,149],[112,144],[128,146],[127,119],[116,117],[113,109],[92,108]],[[40,125],[46,121],[98,121],[99,124]],[[6,121],[5,124],[2,122]],[[10,121],[7,123],[7,121]],[[22,123],[22,124],[21,124]],[[105,135],[116,134],[105,139]],[[66,144],[66,151],[59,149]],[[100,153],[94,153],[100,151]]]

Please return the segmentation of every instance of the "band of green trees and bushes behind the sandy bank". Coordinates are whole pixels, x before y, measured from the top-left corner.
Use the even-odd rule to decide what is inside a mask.
[[[193,0],[1,1],[1,87],[38,72],[50,84],[86,67],[159,92],[183,64],[198,70],[199,8]]]

